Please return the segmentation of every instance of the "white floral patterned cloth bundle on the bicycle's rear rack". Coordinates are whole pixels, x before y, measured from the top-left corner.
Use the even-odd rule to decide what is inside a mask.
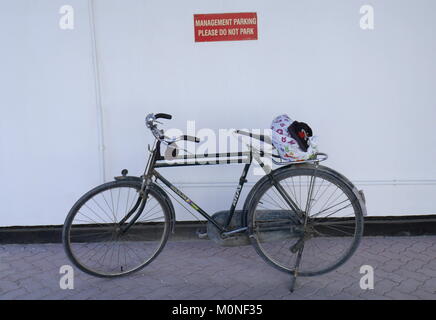
[[[318,150],[315,137],[309,137],[307,152],[302,151],[288,132],[288,127],[294,122],[287,114],[274,118],[271,123],[272,142],[279,152],[280,158],[285,161],[304,161],[313,156]]]

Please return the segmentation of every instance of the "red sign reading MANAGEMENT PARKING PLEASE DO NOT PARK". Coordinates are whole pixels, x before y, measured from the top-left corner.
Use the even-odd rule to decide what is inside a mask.
[[[195,42],[257,40],[257,14],[194,14],[194,32]]]

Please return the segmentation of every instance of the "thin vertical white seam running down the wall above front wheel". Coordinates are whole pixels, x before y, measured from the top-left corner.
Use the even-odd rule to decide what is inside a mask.
[[[106,181],[106,163],[105,163],[106,161],[105,161],[105,145],[104,145],[103,106],[101,103],[100,70],[98,67],[97,40],[95,36],[94,0],[88,0],[88,12],[89,12],[88,14],[89,26],[91,32],[91,52],[92,52],[92,64],[93,64],[93,73],[94,73],[95,104],[97,108],[100,180],[103,183]]]

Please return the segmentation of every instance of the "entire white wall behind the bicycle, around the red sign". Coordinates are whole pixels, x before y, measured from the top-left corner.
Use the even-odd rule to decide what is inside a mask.
[[[0,2],[0,226],[62,224],[100,183],[88,1],[68,2],[73,31],[58,28],[63,4]],[[149,112],[216,130],[286,112],[365,190],[369,215],[435,213],[436,3],[373,1],[373,31],[359,28],[363,4],[96,0],[107,179],[142,173]],[[194,42],[193,14],[241,11],[257,12],[259,40]],[[241,170],[162,172],[213,212],[230,206]]]

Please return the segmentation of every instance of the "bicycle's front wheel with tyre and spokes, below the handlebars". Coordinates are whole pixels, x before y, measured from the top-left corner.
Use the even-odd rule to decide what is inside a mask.
[[[136,181],[113,181],[94,188],[71,208],[63,229],[70,260],[82,271],[116,277],[149,264],[164,247],[170,209],[150,188],[147,199]]]

